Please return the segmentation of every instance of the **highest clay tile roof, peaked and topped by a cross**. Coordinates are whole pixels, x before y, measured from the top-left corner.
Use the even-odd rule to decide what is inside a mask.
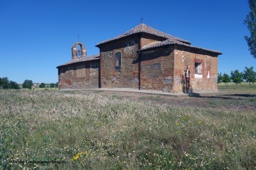
[[[175,39],[177,41],[190,44],[189,41],[187,41],[185,39],[181,39],[181,38],[177,38],[175,36],[171,36],[170,34],[166,34],[164,32],[161,32],[161,31],[159,31],[157,29],[154,29],[154,28],[152,28],[152,27],[150,27],[146,24],[140,24],[140,25],[137,25],[136,27],[134,27],[133,29],[130,29],[129,31],[125,32],[124,34],[121,34],[120,36],[116,36],[115,38],[112,38],[112,39],[108,39],[106,41],[102,41],[102,42],[98,43],[96,46],[102,45],[104,43],[108,43],[110,41],[114,41],[116,39],[131,36],[132,34],[137,34],[137,33],[152,34],[152,35],[163,37],[163,38],[166,38],[166,39]]]

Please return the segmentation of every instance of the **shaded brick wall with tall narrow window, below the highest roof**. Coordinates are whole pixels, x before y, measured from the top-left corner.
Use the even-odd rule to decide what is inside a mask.
[[[138,89],[139,37],[118,39],[100,46],[101,87]],[[121,69],[115,69],[115,52],[122,53]]]

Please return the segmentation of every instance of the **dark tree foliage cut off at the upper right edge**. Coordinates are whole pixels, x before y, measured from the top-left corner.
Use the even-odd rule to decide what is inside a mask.
[[[250,53],[256,59],[256,0],[248,0],[250,12],[244,20],[251,36],[244,36],[249,46]]]

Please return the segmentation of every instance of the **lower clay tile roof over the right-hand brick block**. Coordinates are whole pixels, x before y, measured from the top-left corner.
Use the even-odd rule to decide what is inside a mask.
[[[201,47],[198,47],[198,46],[189,45],[187,43],[182,43],[182,42],[177,41],[175,39],[166,39],[165,41],[162,41],[162,42],[154,42],[154,43],[150,43],[148,45],[144,45],[144,46],[142,46],[141,51],[149,50],[149,49],[157,48],[157,47],[161,47],[161,46],[168,46],[168,45],[187,46],[189,48],[194,48],[194,49],[197,49],[197,50],[204,50],[204,51],[207,51],[207,52],[213,52],[213,53],[217,53],[219,55],[222,54],[221,52],[216,51],[216,50],[209,50],[209,49],[206,49],[206,48],[201,48]]]

